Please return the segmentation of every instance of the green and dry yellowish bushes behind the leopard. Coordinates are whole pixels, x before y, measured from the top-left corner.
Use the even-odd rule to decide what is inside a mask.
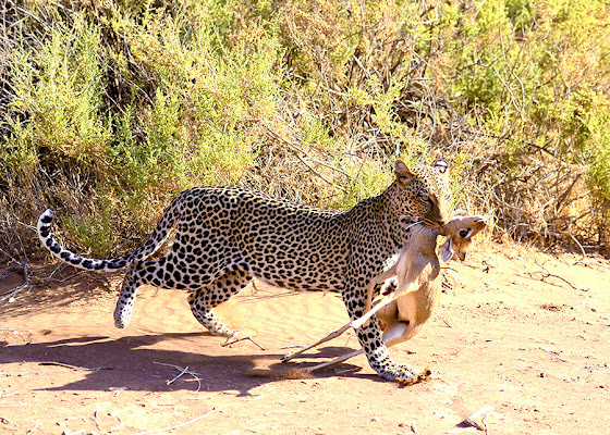
[[[74,249],[117,254],[186,187],[235,183],[345,209],[387,186],[398,157],[449,160],[455,206],[492,214],[498,236],[609,241],[600,0],[5,9],[4,257],[37,248],[27,225],[47,207]]]

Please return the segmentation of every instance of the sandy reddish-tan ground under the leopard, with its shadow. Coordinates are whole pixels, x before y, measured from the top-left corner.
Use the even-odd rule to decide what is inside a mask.
[[[117,330],[121,275],[47,279],[0,304],[0,433],[442,434],[493,407],[476,419],[491,434],[610,434],[610,263],[489,246],[452,265],[424,332],[390,350],[432,371],[408,387],[363,356],[286,378],[357,348],[349,332],[279,362],[347,321],[334,294],[247,288],[218,314],[255,341],[223,347],[180,291],[144,287]]]

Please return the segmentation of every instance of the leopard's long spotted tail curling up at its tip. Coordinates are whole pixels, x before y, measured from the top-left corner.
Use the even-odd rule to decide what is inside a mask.
[[[51,209],[46,210],[42,214],[40,214],[40,217],[38,217],[38,238],[54,257],[65,263],[72,264],[75,268],[95,271],[123,269],[129,264],[147,259],[155,253],[161,245],[163,245],[180,217],[182,198],[183,195],[180,195],[170,203],[159,220],[159,223],[152,231],[152,234],[148,237],[144,245],[133,252],[117,259],[90,259],[81,257],[62,247],[51,233],[51,222],[54,217],[54,213]]]

